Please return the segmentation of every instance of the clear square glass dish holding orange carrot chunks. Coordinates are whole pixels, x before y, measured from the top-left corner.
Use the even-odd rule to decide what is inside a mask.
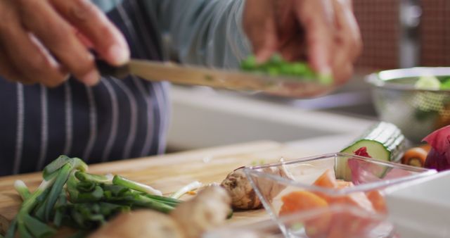
[[[341,188],[314,184],[327,170],[340,181],[339,184],[343,184]],[[286,237],[362,238],[372,237],[366,232],[373,228],[370,218],[386,213],[383,197],[385,188],[437,172],[338,153],[252,166],[245,168],[245,173],[264,208]],[[354,185],[348,181],[352,181]],[[334,211],[330,211],[334,206],[362,210],[365,212],[364,218],[359,215],[361,213],[336,215]],[[303,230],[293,230],[292,225],[281,219],[293,213],[314,212],[320,213],[321,216],[310,223],[299,221],[298,224],[302,224]],[[344,209],[342,212],[350,213],[351,210]],[[340,230],[336,228],[336,224]],[[386,231],[385,235],[378,234],[378,237],[389,237],[391,231],[392,229]]]

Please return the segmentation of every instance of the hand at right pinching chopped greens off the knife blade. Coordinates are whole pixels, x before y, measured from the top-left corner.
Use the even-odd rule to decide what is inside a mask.
[[[258,61],[279,52],[341,84],[361,53],[351,0],[246,0],[243,27]]]

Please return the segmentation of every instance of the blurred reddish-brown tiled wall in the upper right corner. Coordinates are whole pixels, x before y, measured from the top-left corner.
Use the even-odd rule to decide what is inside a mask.
[[[354,0],[364,40],[358,68],[450,65],[449,0]]]

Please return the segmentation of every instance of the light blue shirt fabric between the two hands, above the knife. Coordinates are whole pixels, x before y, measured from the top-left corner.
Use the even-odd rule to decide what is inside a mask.
[[[237,68],[250,54],[242,29],[244,0],[146,0],[165,42],[166,58]]]

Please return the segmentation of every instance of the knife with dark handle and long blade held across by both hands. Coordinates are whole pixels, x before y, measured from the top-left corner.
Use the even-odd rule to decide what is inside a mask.
[[[115,67],[96,60],[101,75],[118,78],[135,75],[149,81],[169,81],[175,84],[202,85],[218,89],[246,92],[266,92],[280,96],[311,98],[326,94],[335,88],[319,80],[247,73],[238,70],[219,70],[173,62],[132,59],[126,65]]]

